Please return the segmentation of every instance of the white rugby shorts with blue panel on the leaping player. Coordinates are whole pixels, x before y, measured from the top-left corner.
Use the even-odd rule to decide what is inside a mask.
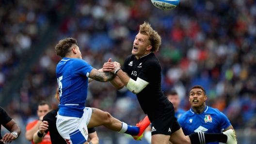
[[[67,144],[83,144],[88,139],[87,125],[92,116],[92,109],[85,107],[81,118],[57,114],[56,127]]]

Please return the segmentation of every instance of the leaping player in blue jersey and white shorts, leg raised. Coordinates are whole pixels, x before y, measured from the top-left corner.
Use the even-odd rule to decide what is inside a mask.
[[[107,112],[85,107],[88,82],[108,82],[115,74],[98,71],[84,61],[76,39],[66,38],[59,41],[55,52],[63,58],[56,67],[60,95],[56,127],[67,144],[88,144],[88,128],[97,126],[136,134],[137,127],[128,126]]]

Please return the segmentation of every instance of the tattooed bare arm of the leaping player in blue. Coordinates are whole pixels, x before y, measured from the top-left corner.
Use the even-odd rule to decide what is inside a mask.
[[[115,78],[115,74],[111,72],[99,72],[93,69],[88,77],[99,82],[108,82]]]

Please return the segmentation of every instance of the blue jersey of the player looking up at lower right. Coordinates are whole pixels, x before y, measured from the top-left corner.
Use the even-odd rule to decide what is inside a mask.
[[[194,132],[221,133],[222,130],[231,125],[222,112],[208,106],[206,106],[202,114],[195,114],[191,108],[179,117],[178,122],[185,135],[190,135]]]

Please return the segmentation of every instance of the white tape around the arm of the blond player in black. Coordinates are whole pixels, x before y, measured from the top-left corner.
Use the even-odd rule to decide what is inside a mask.
[[[126,87],[132,93],[137,94],[141,92],[148,84],[148,82],[144,81],[143,79],[140,79],[139,77],[137,78],[137,81],[134,81],[130,78]]]

